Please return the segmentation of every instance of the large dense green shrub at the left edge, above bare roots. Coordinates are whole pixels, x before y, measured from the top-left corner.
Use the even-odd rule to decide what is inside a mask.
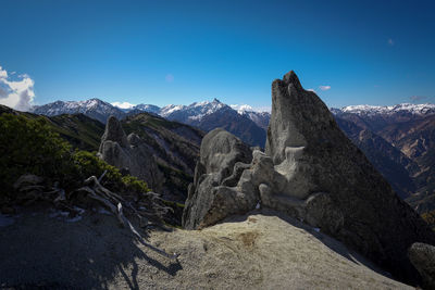
[[[64,178],[71,164],[71,146],[53,133],[40,117],[0,116],[1,191],[11,191],[23,174]]]

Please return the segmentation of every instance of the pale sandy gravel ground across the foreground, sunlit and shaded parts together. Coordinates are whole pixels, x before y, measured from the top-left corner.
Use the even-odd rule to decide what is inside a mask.
[[[0,289],[411,289],[336,240],[274,212],[136,241],[113,216],[26,212],[0,227]]]

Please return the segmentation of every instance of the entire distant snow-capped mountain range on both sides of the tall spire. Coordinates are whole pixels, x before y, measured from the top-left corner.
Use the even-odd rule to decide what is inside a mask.
[[[231,106],[217,99],[189,105],[138,104],[129,109],[99,99],[57,101],[34,106],[30,112],[48,116],[83,113],[102,123],[110,115],[123,119],[147,112],[204,131],[222,127],[259,147],[264,147],[271,116],[249,105]],[[349,105],[332,108],[331,112],[401,198],[420,212],[435,210],[435,104]]]

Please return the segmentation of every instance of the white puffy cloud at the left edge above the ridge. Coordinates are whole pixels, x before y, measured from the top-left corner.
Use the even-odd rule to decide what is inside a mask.
[[[27,74],[18,75],[12,80],[8,72],[0,66],[0,104],[27,111],[35,99],[34,85],[35,81]]]

